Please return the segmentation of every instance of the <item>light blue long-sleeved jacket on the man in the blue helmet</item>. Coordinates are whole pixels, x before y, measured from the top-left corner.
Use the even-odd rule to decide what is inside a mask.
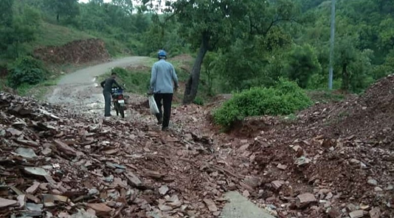
[[[173,93],[174,86],[178,86],[178,77],[176,76],[174,66],[161,59],[153,64],[151,74],[151,88],[154,93]]]

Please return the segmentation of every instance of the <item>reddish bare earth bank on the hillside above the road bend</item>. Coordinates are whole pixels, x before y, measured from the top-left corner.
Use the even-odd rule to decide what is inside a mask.
[[[104,42],[100,39],[77,40],[64,46],[48,46],[34,50],[34,57],[47,63],[81,64],[109,59]]]

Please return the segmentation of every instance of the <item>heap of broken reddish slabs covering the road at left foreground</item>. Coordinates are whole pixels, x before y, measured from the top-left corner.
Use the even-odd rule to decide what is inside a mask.
[[[217,217],[242,178],[209,138],[74,112],[0,93],[0,217]]]

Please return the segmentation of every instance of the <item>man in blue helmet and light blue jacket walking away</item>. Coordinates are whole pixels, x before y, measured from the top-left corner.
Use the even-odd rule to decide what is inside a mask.
[[[150,93],[154,94],[159,113],[156,114],[158,125],[162,124],[162,130],[168,130],[169,118],[171,115],[171,103],[174,89],[178,90],[178,77],[174,66],[165,61],[167,54],[164,50],[158,53],[159,61],[153,64]],[[174,82],[174,84],[172,83]],[[163,109],[162,112],[162,100]]]

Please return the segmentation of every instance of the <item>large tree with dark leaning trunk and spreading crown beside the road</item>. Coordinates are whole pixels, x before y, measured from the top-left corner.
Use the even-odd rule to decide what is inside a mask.
[[[180,23],[180,34],[198,49],[192,73],[186,82],[184,104],[197,96],[201,64],[208,51],[226,50],[237,38],[265,35],[281,21],[292,17],[292,4],[278,0],[276,7],[257,0],[178,0],[167,3]]]

